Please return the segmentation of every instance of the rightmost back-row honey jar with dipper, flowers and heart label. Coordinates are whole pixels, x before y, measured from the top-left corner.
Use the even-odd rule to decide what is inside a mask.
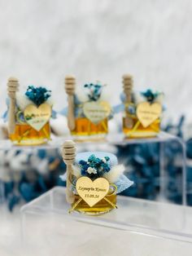
[[[123,76],[123,85],[121,100],[124,104],[125,137],[135,139],[157,136],[160,131],[164,94],[152,90],[133,93],[133,78],[130,75]]]

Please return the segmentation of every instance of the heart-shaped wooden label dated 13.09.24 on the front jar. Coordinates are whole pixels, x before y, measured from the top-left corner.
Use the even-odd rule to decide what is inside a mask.
[[[107,195],[109,182],[104,178],[92,181],[88,177],[81,177],[76,181],[76,191],[90,207],[93,207]]]

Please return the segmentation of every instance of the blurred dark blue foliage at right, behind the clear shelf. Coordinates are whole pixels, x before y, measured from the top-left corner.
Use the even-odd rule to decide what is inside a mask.
[[[164,127],[164,130],[168,133],[172,133],[173,131],[175,135],[182,138],[182,126],[184,120],[184,117],[181,117],[177,126],[169,124]],[[125,190],[122,194],[155,200],[159,196],[160,188],[159,143],[129,144],[118,146],[117,148],[117,157],[119,161],[124,162],[125,166],[129,166],[130,170],[129,173],[127,173],[127,176],[134,181],[134,185],[129,188],[129,190]],[[166,162],[166,174],[168,176],[166,181],[166,197],[172,202],[181,204],[182,166],[178,166],[175,162],[182,157],[181,144],[177,141],[164,143],[164,157],[164,161]],[[192,181],[192,175],[190,180]],[[192,205],[192,196],[191,201],[188,200],[188,204]]]

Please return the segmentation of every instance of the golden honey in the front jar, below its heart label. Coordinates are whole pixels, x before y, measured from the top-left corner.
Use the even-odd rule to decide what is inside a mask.
[[[80,198],[80,196],[76,195],[72,206],[75,205]],[[106,201],[105,198],[107,198],[108,201],[111,201],[113,205],[116,205],[116,194],[112,194],[105,196],[101,201],[98,201],[98,203],[92,207],[90,207],[85,201],[82,200],[78,205],[76,205],[75,210],[81,214],[87,215],[106,214],[113,210],[114,207],[108,201]]]

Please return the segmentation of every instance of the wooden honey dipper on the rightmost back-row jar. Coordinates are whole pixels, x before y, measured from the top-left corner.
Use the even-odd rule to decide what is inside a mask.
[[[132,102],[133,91],[133,77],[129,74],[123,76],[123,88],[125,94],[125,103],[130,104]],[[133,127],[133,118],[129,117],[128,112],[125,111],[125,126],[129,129]]]

